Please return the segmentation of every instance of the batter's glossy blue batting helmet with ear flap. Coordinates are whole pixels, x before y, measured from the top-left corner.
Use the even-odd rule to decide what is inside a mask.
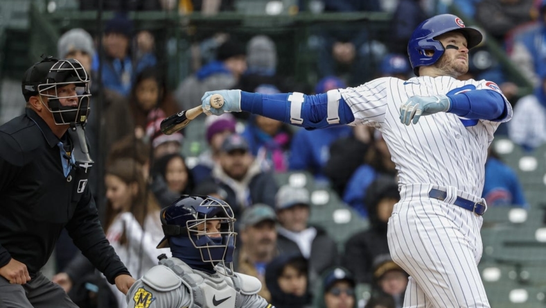
[[[463,21],[455,15],[442,14],[425,20],[413,31],[412,38],[407,43],[407,55],[410,56],[416,76],[419,76],[419,67],[433,65],[443,55],[444,48],[435,38],[450,31],[463,33],[468,49],[482,42],[482,33],[475,28],[466,28]],[[433,53],[426,55],[425,51]]]

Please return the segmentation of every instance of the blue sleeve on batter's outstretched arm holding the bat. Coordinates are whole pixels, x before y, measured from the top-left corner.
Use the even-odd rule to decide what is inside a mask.
[[[260,114],[270,119],[276,119],[304,128],[313,129],[332,126],[326,121],[326,117],[328,117],[327,94],[303,94],[300,116],[303,119],[303,123],[301,124],[290,121],[290,95],[291,93],[259,94],[241,91],[240,108],[252,114]],[[349,105],[345,103],[343,98],[340,98],[340,105],[337,111],[340,117],[339,124],[347,124],[355,121],[351,108],[349,108]]]

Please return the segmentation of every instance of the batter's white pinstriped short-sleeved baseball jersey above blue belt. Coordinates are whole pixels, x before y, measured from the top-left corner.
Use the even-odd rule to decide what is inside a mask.
[[[499,122],[464,119],[449,112],[421,117],[417,125],[400,123],[400,105],[414,95],[456,94],[473,89],[500,92],[486,80],[461,81],[449,76],[385,77],[359,87],[340,89],[351,107],[351,125],[370,125],[382,133],[400,176],[400,185],[431,183],[457,187],[482,196],[488,145],[501,122],[509,121],[512,108],[505,99],[507,116]],[[412,157],[428,157],[416,164]]]

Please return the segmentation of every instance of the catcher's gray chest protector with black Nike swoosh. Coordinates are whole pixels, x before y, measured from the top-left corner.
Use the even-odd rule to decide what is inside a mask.
[[[224,276],[195,271],[177,258],[162,259],[160,265],[142,277],[142,281],[162,292],[178,288],[188,289],[191,305],[188,308],[233,308],[241,307],[241,295],[253,295],[261,289],[256,278],[240,273]]]

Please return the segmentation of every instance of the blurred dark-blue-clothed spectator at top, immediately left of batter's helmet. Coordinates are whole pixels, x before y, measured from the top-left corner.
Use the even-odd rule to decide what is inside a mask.
[[[398,1],[390,22],[389,51],[403,55],[407,53],[407,42],[414,28],[430,17],[425,10],[426,4],[423,0]]]

